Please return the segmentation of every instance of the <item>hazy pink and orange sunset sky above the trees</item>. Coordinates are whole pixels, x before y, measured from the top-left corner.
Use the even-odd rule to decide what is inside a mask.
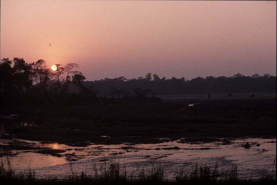
[[[276,76],[276,1],[1,0],[0,46],[86,80]]]

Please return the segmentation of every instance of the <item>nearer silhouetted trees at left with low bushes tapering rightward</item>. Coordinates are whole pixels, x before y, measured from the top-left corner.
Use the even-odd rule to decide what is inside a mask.
[[[120,96],[107,97],[93,86],[85,86],[86,77],[78,71],[79,64],[55,65],[50,70],[44,60],[27,63],[23,58],[3,58],[0,62],[1,113],[19,109],[43,109],[53,106],[89,105],[123,102],[160,102],[150,89],[136,88],[132,93],[111,88]],[[69,89],[75,88],[72,93]],[[117,101],[116,100],[116,101]]]

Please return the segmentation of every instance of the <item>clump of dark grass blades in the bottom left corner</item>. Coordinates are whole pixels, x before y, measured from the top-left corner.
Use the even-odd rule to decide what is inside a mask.
[[[1,158],[0,165],[0,181],[9,180],[9,181],[33,181],[35,179],[35,171],[31,171],[29,163],[28,171],[21,171],[16,173],[15,169],[11,167],[10,160],[7,157],[7,167],[4,168],[3,159]]]

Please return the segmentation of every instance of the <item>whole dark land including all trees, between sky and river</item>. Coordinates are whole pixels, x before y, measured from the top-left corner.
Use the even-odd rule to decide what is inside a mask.
[[[166,140],[161,138],[185,138],[196,143],[214,138],[276,138],[276,95],[253,94],[276,93],[276,76],[270,74],[238,73],[186,80],[160,78],[157,74],[152,78],[148,73],[145,78],[85,82],[77,63],[56,66],[57,70],[50,71],[42,59],[32,63],[23,58],[1,60],[1,115],[19,115],[22,122],[37,125],[11,127],[10,131],[5,128],[3,132],[9,132],[9,137],[15,134],[18,138],[71,146]],[[158,97],[208,93],[226,93],[226,98]],[[230,97],[231,93],[251,93],[253,98],[249,94],[248,98],[227,99],[227,93]],[[10,124],[4,119],[1,117],[1,137],[5,136],[2,124]]]

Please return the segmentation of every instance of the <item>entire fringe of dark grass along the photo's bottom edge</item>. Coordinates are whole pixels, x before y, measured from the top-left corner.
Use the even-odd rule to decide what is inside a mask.
[[[25,182],[33,182],[33,181],[57,181],[57,179],[36,179],[35,171],[32,171],[30,168],[28,171],[20,171],[17,172],[12,168],[9,159],[7,158],[8,163],[7,167],[4,167],[3,159],[1,161],[0,166],[0,181],[25,181]],[[231,164],[229,167],[221,167],[219,168],[218,164],[215,163],[214,167],[209,167],[206,164],[199,165],[195,163],[195,165],[189,171],[185,171],[184,169],[180,169],[175,173],[175,179],[167,179],[165,168],[160,164],[156,167],[152,167],[151,169],[145,169],[144,167],[134,167],[133,171],[129,174],[126,171],[126,166],[124,164],[120,164],[120,162],[111,161],[109,164],[106,162],[97,167],[96,162],[93,163],[93,173],[87,174],[86,171],[82,171],[81,173],[74,172],[72,168],[72,164],[70,161],[69,168],[71,174],[62,178],[62,181],[66,182],[93,182],[93,183],[162,183],[162,182],[174,182],[174,183],[218,183],[218,182],[276,182],[276,175],[273,173],[273,169],[271,172],[268,172],[266,177],[261,177],[259,180],[251,180],[251,179],[243,179],[239,177],[237,173],[237,165]],[[275,161],[273,167],[275,165]]]

